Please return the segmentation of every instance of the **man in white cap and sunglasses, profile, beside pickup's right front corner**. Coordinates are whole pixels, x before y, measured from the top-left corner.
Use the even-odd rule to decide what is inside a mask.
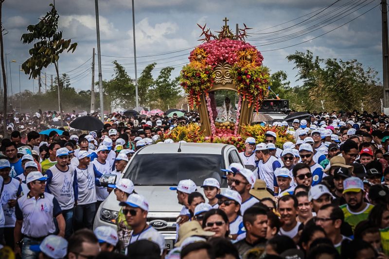
[[[231,189],[239,192],[242,197],[242,204],[240,207],[242,215],[245,213],[246,209],[259,202],[259,200],[249,192],[254,187],[255,180],[256,177],[254,173],[246,168],[237,171],[232,180]]]

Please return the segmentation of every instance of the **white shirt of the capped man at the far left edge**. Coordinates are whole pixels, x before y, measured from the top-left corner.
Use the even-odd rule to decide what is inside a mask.
[[[1,177],[3,181],[3,178]],[[1,183],[2,184],[2,183]],[[1,193],[1,207],[4,213],[4,227],[14,227],[16,223],[15,207],[8,206],[8,200],[16,200],[21,194],[20,182],[11,178],[11,181],[4,184],[3,191]]]

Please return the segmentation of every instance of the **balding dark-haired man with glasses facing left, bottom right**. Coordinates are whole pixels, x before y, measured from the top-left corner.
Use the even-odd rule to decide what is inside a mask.
[[[340,234],[340,227],[344,222],[342,209],[334,204],[326,204],[320,207],[314,220],[318,226],[324,229],[327,238],[331,240],[340,254],[342,241],[348,239]]]

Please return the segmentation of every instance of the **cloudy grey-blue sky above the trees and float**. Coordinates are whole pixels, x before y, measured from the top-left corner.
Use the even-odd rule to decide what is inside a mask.
[[[2,14],[3,27],[8,31],[4,36],[8,61],[23,62],[29,57],[31,46],[23,45],[20,36],[27,32],[29,24],[37,23],[38,17],[50,10],[51,2],[5,0]],[[253,28],[248,42],[263,53],[265,66],[272,71],[285,70],[292,86],[299,82],[295,82],[293,64],[285,57],[306,50],[321,58],[357,59],[365,67],[378,70],[382,78],[379,3],[380,0],[135,0],[138,75],[152,62],[157,63],[155,76],[167,66],[175,67],[174,75],[178,75],[188,61],[187,49],[200,44],[197,40],[201,31],[196,23],[207,23],[212,31],[218,31],[227,16],[233,30],[236,23]],[[77,90],[90,89],[92,49],[97,48],[94,0],[56,0],[55,5],[64,37],[78,43],[73,54],[60,57],[60,73],[67,72]],[[99,12],[103,79],[112,78],[113,60],[123,64],[133,78],[131,0],[100,0]],[[11,63],[11,72],[15,93],[19,91],[17,63]],[[37,91],[37,81],[33,84],[21,73],[21,90],[32,91],[34,85]],[[54,67],[46,73],[54,74]]]

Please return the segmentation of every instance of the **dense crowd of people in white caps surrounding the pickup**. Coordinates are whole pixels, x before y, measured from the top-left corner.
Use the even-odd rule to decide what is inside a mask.
[[[39,134],[47,117],[58,118],[38,112],[7,121],[10,137],[0,146],[0,253],[23,259],[389,258],[388,116],[314,112],[290,125],[273,123],[296,140],[282,148],[272,131],[264,143],[245,139],[243,165],[222,169],[227,188],[215,178],[201,187],[191,179],[170,187],[182,205],[170,251],[148,224],[149,203],[124,169],[161,132],[201,123],[198,114],[110,114],[101,131],[84,133],[68,123],[61,133]],[[116,175],[115,184],[100,182],[107,173]],[[93,230],[96,211],[112,191],[121,207],[116,228]]]

